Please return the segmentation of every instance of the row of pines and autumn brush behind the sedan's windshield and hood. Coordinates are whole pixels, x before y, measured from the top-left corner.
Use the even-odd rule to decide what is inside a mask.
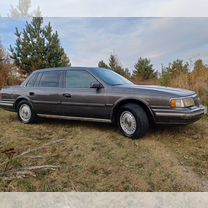
[[[167,87],[178,87],[196,91],[204,104],[208,105],[208,65],[202,59],[190,64],[182,59],[176,59],[168,66],[155,70],[148,58],[140,57],[134,65],[132,73],[122,67],[115,55],[110,55],[109,63],[103,60],[99,67],[109,68],[125,76],[135,84],[153,84]]]

